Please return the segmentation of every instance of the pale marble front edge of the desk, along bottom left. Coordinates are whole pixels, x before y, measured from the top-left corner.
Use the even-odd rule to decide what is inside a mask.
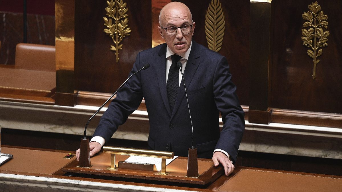
[[[58,179],[0,173],[0,191],[151,191],[184,192],[184,190],[143,187],[125,184]]]

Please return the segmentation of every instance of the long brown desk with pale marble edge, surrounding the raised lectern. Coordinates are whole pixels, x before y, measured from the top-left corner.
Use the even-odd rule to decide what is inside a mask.
[[[226,177],[205,186],[118,178],[70,175],[63,167],[76,166],[75,157],[61,159],[68,151],[3,146],[13,158],[0,166],[0,191],[15,186],[44,191],[341,191],[342,177],[237,166]],[[182,158],[182,157],[181,157]],[[185,157],[183,157],[185,158]],[[210,160],[208,160],[210,161]],[[25,166],[26,165],[26,166]]]

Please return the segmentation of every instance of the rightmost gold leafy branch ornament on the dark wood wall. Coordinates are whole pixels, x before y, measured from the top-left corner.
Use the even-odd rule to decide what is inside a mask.
[[[324,27],[325,29],[328,29],[328,16],[324,15],[323,11],[319,12],[321,10],[321,6],[318,5],[317,1],[315,1],[311,5],[308,5],[308,8],[310,11],[302,14],[303,19],[306,20],[306,22],[304,22],[303,24],[304,29],[302,29],[302,41],[303,45],[311,48],[307,50],[307,54],[314,61],[312,78],[315,80],[316,65],[319,62],[319,59],[317,59],[317,57],[321,56],[323,53],[323,50],[320,48],[328,45],[327,42],[329,31],[323,31],[322,28]],[[305,27],[310,28],[306,30]]]

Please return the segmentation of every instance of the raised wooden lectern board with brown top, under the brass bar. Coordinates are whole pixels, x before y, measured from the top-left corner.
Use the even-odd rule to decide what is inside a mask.
[[[128,155],[117,155],[117,162],[124,161],[128,158]],[[215,167],[212,160],[209,159],[198,159],[198,177],[186,177],[187,169],[187,157],[177,157],[170,164],[166,166],[168,175],[157,175],[156,168],[154,171],[142,171],[142,170],[130,170],[130,169],[120,169],[118,170],[107,170],[110,166],[110,154],[100,153],[91,158],[90,168],[83,168],[77,166],[67,166],[62,170],[69,173],[79,173],[79,174],[90,174],[90,175],[102,175],[102,176],[112,176],[112,177],[124,177],[124,178],[135,178],[135,179],[145,179],[145,180],[156,180],[156,181],[168,181],[176,183],[190,183],[190,184],[200,184],[206,185],[215,181],[221,175],[223,175],[224,170],[222,166]],[[118,165],[118,163],[116,163]]]

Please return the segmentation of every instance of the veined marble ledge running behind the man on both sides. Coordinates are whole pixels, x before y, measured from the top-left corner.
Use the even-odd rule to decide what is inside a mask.
[[[97,109],[94,106],[65,107],[0,101],[0,125],[12,129],[83,135],[85,124]],[[106,109],[103,108],[91,120],[87,135],[94,133]],[[222,126],[222,119],[220,122]],[[342,159],[341,128],[245,123],[240,150]],[[134,111],[112,138],[147,141],[148,133],[147,112]]]

